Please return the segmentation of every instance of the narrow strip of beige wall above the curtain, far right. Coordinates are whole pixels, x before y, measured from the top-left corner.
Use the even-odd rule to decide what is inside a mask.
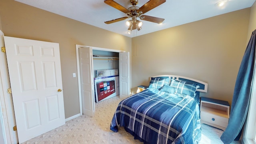
[[[256,29],[256,2],[251,7],[250,22],[248,28],[247,42],[249,42],[252,32]]]

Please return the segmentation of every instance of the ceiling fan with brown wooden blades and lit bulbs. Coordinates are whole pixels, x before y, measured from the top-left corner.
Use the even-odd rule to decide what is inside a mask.
[[[155,23],[161,24],[164,21],[164,18],[157,18],[157,17],[147,16],[142,14],[145,14],[146,12],[152,10],[153,8],[156,8],[160,4],[163,4],[164,2],[166,2],[166,0],[149,0],[143,6],[138,7],[136,6],[138,4],[138,0],[130,0],[130,3],[132,4],[132,6],[126,9],[120,4],[118,4],[117,2],[115,2],[114,0],[104,0],[104,3],[127,14],[127,16],[125,17],[109,20],[109,21],[106,21],[105,23],[112,24],[114,22],[126,20],[127,18],[132,18],[132,20],[126,21],[126,26],[129,26],[128,31],[132,31],[135,29],[141,30],[142,22],[137,20],[137,18],[140,18],[140,20],[146,20],[149,22],[155,22]]]

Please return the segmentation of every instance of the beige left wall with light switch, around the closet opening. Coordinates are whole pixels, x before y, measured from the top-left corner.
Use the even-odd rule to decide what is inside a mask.
[[[0,16],[5,36],[60,44],[66,118],[80,113],[75,44],[131,52],[131,38],[14,0],[1,0]]]

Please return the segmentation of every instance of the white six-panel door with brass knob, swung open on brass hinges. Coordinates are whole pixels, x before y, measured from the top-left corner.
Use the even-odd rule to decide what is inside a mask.
[[[19,143],[65,124],[59,44],[4,36]]]

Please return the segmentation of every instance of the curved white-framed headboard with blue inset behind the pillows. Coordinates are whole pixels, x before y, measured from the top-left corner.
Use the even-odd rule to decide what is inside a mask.
[[[199,92],[207,92],[207,88],[208,88],[208,84],[206,82],[202,82],[200,80],[196,80],[194,78],[188,78],[185,76],[176,76],[176,75],[158,75],[158,76],[151,76],[151,78],[155,78],[155,77],[168,77],[170,79],[176,79],[176,80],[182,80],[182,81],[186,81],[186,82],[193,82],[196,83],[200,86],[200,88],[198,88],[196,90],[196,93],[199,94]]]

